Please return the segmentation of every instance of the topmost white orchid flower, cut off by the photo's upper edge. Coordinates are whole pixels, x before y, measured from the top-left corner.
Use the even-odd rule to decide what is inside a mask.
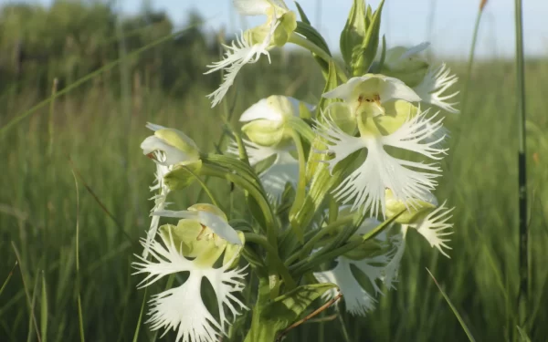
[[[281,24],[282,16],[290,12],[287,5],[281,0],[233,0],[237,11],[242,16],[267,16],[267,23],[237,36],[232,45],[227,48],[225,58],[208,65],[209,74],[224,69],[225,75],[220,87],[208,98],[213,98],[212,107],[215,107],[227,94],[228,88],[234,83],[239,70],[246,64],[257,63],[265,55],[269,58],[269,49],[274,47],[275,32]]]

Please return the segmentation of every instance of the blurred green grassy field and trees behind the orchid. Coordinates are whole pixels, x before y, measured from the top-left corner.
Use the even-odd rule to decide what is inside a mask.
[[[62,10],[66,12],[58,9],[61,14],[56,16],[66,18],[75,11],[64,7]],[[48,16],[53,16],[51,11],[47,12]],[[15,20],[15,16],[6,15],[5,9],[2,13]],[[90,21],[97,24],[104,20],[104,26],[111,25],[105,28],[107,33],[114,32],[114,24],[105,16],[110,15],[90,16]],[[134,40],[129,35],[119,35],[118,40],[101,41],[95,45],[99,51],[95,55],[85,52],[90,48],[85,43],[94,41],[85,39],[85,34],[97,30],[74,28],[73,22],[83,21],[75,17],[73,21],[67,19],[66,26],[51,31],[54,33],[43,33],[23,19],[18,24],[10,24],[13,25],[11,31],[2,26],[0,48],[16,46],[12,39],[16,35],[10,32],[19,27],[26,27],[20,29],[23,36],[44,35],[33,38],[39,44],[55,39],[64,43],[42,47],[28,43],[29,37],[26,37],[23,41],[32,47],[27,51],[58,51],[59,48],[62,51],[48,57],[47,63],[36,56],[28,57],[21,72],[16,74],[11,72],[13,60],[0,63],[3,79],[0,127],[47,98],[53,78],[59,78],[59,88],[66,87],[96,67],[120,57],[121,40],[127,41],[126,48],[132,51],[173,28],[169,23],[156,25],[166,20],[162,16],[158,16],[153,26],[144,26],[147,20],[140,17],[132,18],[133,26],[127,24],[131,20],[126,22],[123,32],[137,32]],[[132,31],[141,26],[163,28],[154,32]],[[164,31],[164,26],[169,29]],[[80,47],[68,44],[67,36],[62,36],[76,32],[77,28],[83,35],[75,38],[83,42]],[[215,60],[218,51],[215,42],[208,43],[205,36],[193,39],[192,35],[198,34],[202,35],[194,30],[190,35],[179,37],[181,40],[154,47],[58,98],[53,108],[51,153],[47,106],[0,137],[4,166],[0,178],[1,283],[16,263],[12,244],[20,254],[20,264],[0,294],[0,341],[36,340],[29,303],[34,303],[32,315],[37,317],[40,331],[47,326],[47,340],[79,340],[75,264],[77,198],[69,159],[116,219],[116,222],[111,220],[80,181],[79,294],[86,339],[132,340],[144,292],[136,289],[139,279],[131,276],[130,264],[134,260],[132,254],[141,253],[136,243],[149,225],[151,202],[147,199],[151,193],[148,186],[153,181],[153,163],[139,148],[142,139],[150,134],[144,125],[150,121],[184,130],[204,150],[213,150],[222,131],[219,116],[225,109],[223,106],[210,109],[205,98],[216,87],[218,76],[201,76],[205,64]],[[191,52],[187,51],[188,47],[192,47]],[[245,67],[238,75],[237,84],[229,94],[229,99],[237,98],[235,119],[243,109],[271,94],[311,102],[321,95],[321,73],[311,57],[275,53],[272,59],[272,65],[262,60],[258,65]],[[68,60],[73,63],[72,67],[68,67]],[[460,79],[465,78],[465,61],[448,61],[448,65]],[[548,181],[548,116],[543,90],[548,88],[548,78],[545,75],[548,75],[548,60],[526,60],[532,288],[530,315],[523,328],[532,341],[545,341],[548,337],[548,326],[543,324],[548,320],[545,310],[548,269],[544,266],[548,245],[548,187],[545,185]],[[377,310],[365,318],[342,314],[352,341],[467,340],[426,267],[436,276],[478,341],[519,340],[514,67],[512,61],[505,60],[478,62],[470,77],[467,109],[457,116],[448,114],[446,119],[452,138],[449,156],[443,165],[444,178],[437,191],[438,198],[447,198],[448,205],[457,208],[451,259],[437,254],[415,232],[410,233],[397,291],[382,296]],[[229,185],[219,182],[216,189],[227,193]],[[177,206],[183,208],[196,202],[197,195],[198,188],[194,187],[179,194]],[[42,275],[47,307],[42,295]],[[43,307],[46,309],[41,311]],[[44,324],[40,323],[41,319]],[[341,329],[338,320],[311,323],[292,331],[288,339],[339,341]],[[147,338],[152,336],[143,326],[139,340],[152,340]]]

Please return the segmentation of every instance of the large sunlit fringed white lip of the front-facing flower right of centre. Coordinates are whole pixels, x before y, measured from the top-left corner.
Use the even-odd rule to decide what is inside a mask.
[[[411,106],[411,105],[409,105]],[[341,106],[337,106],[341,109]],[[410,109],[409,109],[410,110]],[[329,108],[327,109],[329,113]],[[432,140],[437,136],[437,130],[442,128],[442,120],[437,114],[427,118],[427,111],[407,118],[398,128],[383,135],[377,128],[376,118],[359,119],[360,137],[353,137],[342,131],[336,124],[325,118],[324,122],[316,123],[316,130],[327,144],[327,152],[332,155],[329,164],[330,171],[354,151],[367,150],[364,163],[347,176],[333,190],[335,198],[342,203],[352,202],[352,210],[361,208],[363,212],[370,210],[371,216],[379,212],[385,216],[385,189],[390,189],[395,198],[415,207],[417,202],[425,200],[437,185],[435,178],[441,171],[433,163],[406,161],[391,156],[386,147],[416,152],[432,160],[441,160],[446,150],[437,148],[444,137]],[[388,118],[379,116],[379,119]]]

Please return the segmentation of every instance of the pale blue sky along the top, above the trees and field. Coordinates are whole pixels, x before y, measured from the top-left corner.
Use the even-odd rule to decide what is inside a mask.
[[[37,0],[47,4],[52,0]],[[184,18],[193,9],[201,13],[207,22],[206,30],[222,26],[227,30],[239,30],[261,24],[260,17],[241,18],[232,7],[231,0],[150,0],[153,8],[166,10],[178,26],[184,26]],[[368,1],[376,7],[380,0]],[[0,0],[5,2],[5,0]],[[295,8],[293,1],[286,3]],[[338,37],[348,16],[352,0],[300,0],[300,5],[320,26],[328,44],[338,47]],[[529,56],[548,55],[548,0],[523,1],[524,44]],[[320,5],[318,5],[320,4]],[[118,0],[123,12],[131,14],[142,7],[142,0]],[[382,32],[388,47],[415,45],[430,40],[432,50],[438,56],[466,57],[478,13],[479,0],[386,0]],[[432,29],[430,16],[434,13]],[[477,53],[480,57],[512,57],[515,36],[513,0],[489,0],[485,7]],[[431,32],[431,34],[430,34]]]

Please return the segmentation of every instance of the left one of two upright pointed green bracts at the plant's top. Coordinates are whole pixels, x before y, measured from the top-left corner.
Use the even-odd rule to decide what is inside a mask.
[[[346,24],[341,32],[341,53],[347,65],[352,65],[353,50],[362,45],[367,26],[365,2],[364,0],[354,0]]]

